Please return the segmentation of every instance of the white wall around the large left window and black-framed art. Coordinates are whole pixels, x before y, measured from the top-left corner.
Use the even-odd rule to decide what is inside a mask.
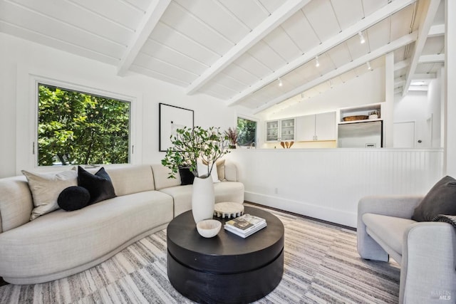
[[[31,74],[135,99],[135,162],[160,162],[158,103],[195,110],[195,125],[222,130],[236,124],[236,109],[207,95],[185,95],[184,88],[135,73],[118,77],[116,68],[0,33],[0,177],[31,169],[33,108]],[[32,85],[33,86],[33,85]],[[138,123],[139,122],[139,123]],[[138,159],[138,155],[140,155]]]

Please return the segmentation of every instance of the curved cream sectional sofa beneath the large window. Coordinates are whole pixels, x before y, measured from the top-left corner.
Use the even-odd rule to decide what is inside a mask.
[[[191,209],[192,185],[168,179],[161,164],[106,168],[116,197],[76,211],[57,209],[30,220],[24,176],[0,179],[0,276],[15,284],[42,283],[81,272],[160,229]],[[233,163],[214,183],[215,201],[244,201]]]

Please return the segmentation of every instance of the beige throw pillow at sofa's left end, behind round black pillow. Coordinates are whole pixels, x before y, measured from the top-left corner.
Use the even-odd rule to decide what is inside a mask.
[[[36,173],[22,170],[28,180],[28,187],[33,196],[33,210],[30,220],[58,209],[58,195],[63,189],[78,185],[75,170],[66,170],[58,173]]]

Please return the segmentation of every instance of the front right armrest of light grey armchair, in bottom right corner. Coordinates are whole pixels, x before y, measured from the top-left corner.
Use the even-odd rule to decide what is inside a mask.
[[[410,225],[403,240],[399,303],[454,301],[455,257],[455,227],[429,221]]]

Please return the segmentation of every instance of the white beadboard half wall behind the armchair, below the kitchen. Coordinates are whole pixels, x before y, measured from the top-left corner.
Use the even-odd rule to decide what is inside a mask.
[[[356,227],[367,195],[426,194],[443,176],[443,149],[237,149],[245,199]]]

